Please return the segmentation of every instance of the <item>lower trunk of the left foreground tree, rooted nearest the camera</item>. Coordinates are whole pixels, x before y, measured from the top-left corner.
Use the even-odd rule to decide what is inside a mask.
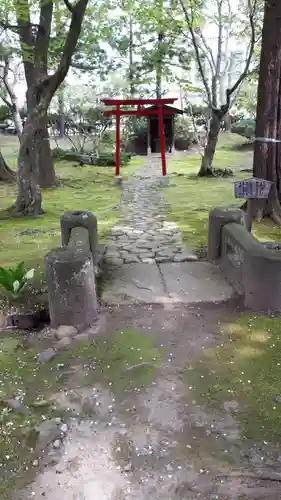
[[[27,117],[18,156],[18,196],[12,209],[19,215],[43,213],[38,171],[40,142],[40,128],[33,113]]]

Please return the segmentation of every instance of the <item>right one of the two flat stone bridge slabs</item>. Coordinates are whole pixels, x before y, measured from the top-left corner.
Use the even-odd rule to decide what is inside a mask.
[[[209,262],[160,264],[166,291],[172,302],[224,302],[235,296],[217,266]]]

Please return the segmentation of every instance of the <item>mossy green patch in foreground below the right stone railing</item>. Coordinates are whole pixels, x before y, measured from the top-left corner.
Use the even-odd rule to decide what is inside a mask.
[[[188,367],[189,383],[205,404],[236,401],[248,439],[281,444],[281,320],[242,314],[220,332],[217,347]]]

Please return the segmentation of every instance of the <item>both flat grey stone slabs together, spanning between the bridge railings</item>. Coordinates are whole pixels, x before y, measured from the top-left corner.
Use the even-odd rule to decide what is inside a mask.
[[[224,302],[235,291],[221,271],[209,262],[127,264],[113,270],[102,300],[120,304],[192,304]]]

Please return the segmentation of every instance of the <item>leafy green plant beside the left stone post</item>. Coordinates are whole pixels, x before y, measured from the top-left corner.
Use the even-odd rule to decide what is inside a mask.
[[[24,262],[15,267],[0,267],[0,286],[10,299],[17,299],[23,294],[28,281],[34,276],[34,269],[27,270]]]

